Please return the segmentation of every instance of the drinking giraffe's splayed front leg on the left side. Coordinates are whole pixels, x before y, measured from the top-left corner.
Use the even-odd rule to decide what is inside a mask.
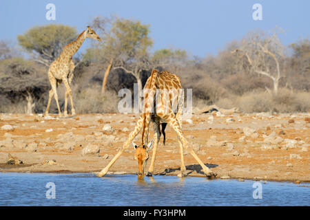
[[[134,131],[132,131],[132,133],[130,133],[129,137],[127,138],[127,141],[123,145],[123,148],[121,148],[121,150],[119,150],[118,153],[113,157],[111,162],[109,164],[107,164],[107,166],[105,166],[105,168],[103,168],[103,170],[101,170],[100,173],[97,174],[97,177],[103,177],[104,175],[106,175],[107,171],[110,169],[110,167],[114,164],[114,162],[116,162],[116,159],[118,159],[118,157],[120,157],[122,155],[122,153],[128,148],[128,146],[130,146],[132,140],[134,140],[134,137],[136,137],[136,135],[139,133],[139,131],[141,131],[142,122],[143,122],[143,118],[140,117],[138,122],[136,123]]]

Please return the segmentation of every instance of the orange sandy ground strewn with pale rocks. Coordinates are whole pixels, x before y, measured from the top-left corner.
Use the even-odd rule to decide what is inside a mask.
[[[309,113],[197,114],[192,121],[183,121],[183,132],[189,146],[217,173],[217,178],[310,181],[309,117]],[[0,114],[0,171],[98,172],[123,146],[137,119],[134,114],[87,114],[71,118]],[[103,131],[106,124],[112,129]],[[150,130],[149,140],[153,135]],[[141,135],[136,142],[140,142],[139,138]],[[179,146],[176,133],[169,126],[166,138],[165,146],[163,137],[158,145],[154,173],[177,175]],[[88,148],[90,153],[85,151]],[[6,164],[9,153],[23,164]],[[150,163],[152,151],[149,156]],[[185,165],[189,175],[203,176],[198,162],[187,151]],[[137,171],[132,147],[110,169],[114,174]]]

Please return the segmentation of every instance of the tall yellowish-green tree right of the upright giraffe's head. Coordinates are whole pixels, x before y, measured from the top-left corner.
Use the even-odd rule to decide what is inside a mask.
[[[153,45],[152,39],[149,38],[149,25],[130,19],[96,17],[93,26],[101,33],[104,43],[101,49],[92,49],[92,52],[99,54],[101,51],[101,56],[104,58],[96,59],[99,58],[108,64],[103,79],[103,91],[110,69],[123,69],[125,73],[132,74],[136,78],[140,93],[142,91],[141,74],[143,69],[149,69],[148,50]],[[92,57],[90,54],[87,56]]]

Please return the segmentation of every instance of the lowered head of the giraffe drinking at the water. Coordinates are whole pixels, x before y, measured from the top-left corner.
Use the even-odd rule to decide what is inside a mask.
[[[149,159],[149,150],[152,148],[153,140],[147,144],[147,146],[138,146],[132,142],[134,149],[136,150],[134,158],[138,161],[138,179],[143,179],[144,177],[144,168],[147,164],[147,159]]]

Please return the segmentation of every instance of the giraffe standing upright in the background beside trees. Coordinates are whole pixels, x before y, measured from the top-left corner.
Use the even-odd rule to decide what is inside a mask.
[[[75,115],[75,110],[72,101],[72,92],[70,89],[70,84],[73,78],[73,70],[74,70],[74,63],[72,61],[72,56],[79,50],[82,43],[85,39],[96,39],[97,41],[101,41],[100,37],[90,28],[87,26],[87,30],[84,30],[76,41],[69,43],[65,47],[63,47],[63,51],[61,52],[60,56],[56,58],[56,60],[51,63],[50,68],[48,69],[48,78],[50,79],[50,85],[52,89],[50,89],[50,94],[48,97],[48,107],[46,107],[45,115],[48,115],[48,111],[50,109],[50,102],[52,97],[54,96],[59,112],[59,116],[61,116],[61,109],[59,107],[58,96],[57,96],[57,87],[59,83],[63,82],[65,84],[65,110],[64,115],[68,116],[67,113],[67,104],[68,104],[68,95],[71,102],[71,111],[72,115]]]

